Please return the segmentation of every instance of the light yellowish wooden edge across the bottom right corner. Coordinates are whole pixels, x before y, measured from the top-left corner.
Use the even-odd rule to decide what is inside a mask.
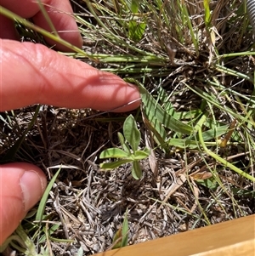
[[[255,214],[94,256],[255,255]]]

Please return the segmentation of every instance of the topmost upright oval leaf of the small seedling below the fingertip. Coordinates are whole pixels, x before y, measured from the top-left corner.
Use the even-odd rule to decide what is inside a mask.
[[[123,125],[123,133],[127,142],[131,145],[133,152],[137,151],[141,140],[141,134],[132,115],[129,115],[126,118]]]

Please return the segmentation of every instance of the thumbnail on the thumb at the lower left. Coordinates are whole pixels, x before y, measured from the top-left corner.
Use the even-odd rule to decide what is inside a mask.
[[[26,171],[20,178],[20,187],[23,193],[24,210],[30,210],[42,197],[46,188],[46,179],[36,171]]]

